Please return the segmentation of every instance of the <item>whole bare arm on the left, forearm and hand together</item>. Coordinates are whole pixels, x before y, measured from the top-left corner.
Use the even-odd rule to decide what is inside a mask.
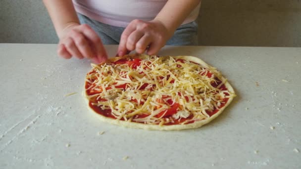
[[[75,56],[95,62],[107,58],[100,38],[88,25],[80,25],[72,0],[43,0],[59,38],[57,53],[65,59]]]

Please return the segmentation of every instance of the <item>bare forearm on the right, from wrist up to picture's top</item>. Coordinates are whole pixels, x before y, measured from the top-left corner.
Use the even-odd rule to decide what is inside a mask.
[[[168,0],[155,20],[161,21],[168,32],[173,34],[200,2],[201,0]]]

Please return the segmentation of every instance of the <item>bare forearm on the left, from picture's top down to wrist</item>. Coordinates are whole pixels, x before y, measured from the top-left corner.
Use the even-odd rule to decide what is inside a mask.
[[[43,0],[43,2],[59,38],[65,28],[79,24],[72,0]]]

